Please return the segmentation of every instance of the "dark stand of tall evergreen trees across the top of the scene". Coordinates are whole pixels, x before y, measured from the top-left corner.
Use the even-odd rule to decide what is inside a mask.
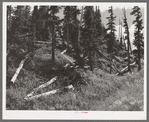
[[[63,11],[64,18],[59,18],[57,13]],[[63,48],[74,49],[74,59],[80,66],[85,62],[93,70],[96,61],[99,60],[97,50],[104,48],[110,57],[110,73],[112,72],[112,59],[115,54],[123,48],[116,41],[115,20],[112,6],[108,10],[107,28],[101,21],[100,8],[96,6],[85,6],[81,10],[77,6],[34,6],[31,12],[30,6],[7,6],[7,50],[11,45],[19,48],[22,44],[27,45],[28,51],[34,47],[33,42],[48,41],[52,46],[52,60],[55,60],[55,50],[60,38]],[[124,27],[127,40],[128,70],[130,71],[130,39],[129,28],[125,9]],[[131,15],[136,16],[134,45],[137,47],[138,70],[141,69],[140,59],[143,55],[143,20],[140,8],[135,6]],[[79,19],[80,18],[80,19]],[[97,56],[98,55],[98,56]]]

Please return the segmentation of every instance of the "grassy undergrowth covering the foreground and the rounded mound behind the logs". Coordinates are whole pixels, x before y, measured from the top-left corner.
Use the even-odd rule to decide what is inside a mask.
[[[44,53],[41,53],[41,50]],[[37,50],[34,57],[24,64],[24,69],[27,70],[21,70],[15,83],[7,87],[7,110],[143,110],[143,69],[125,76],[108,74],[101,69],[94,69],[93,72],[73,68],[64,70],[63,66],[68,61],[60,52],[56,52],[56,60],[52,61],[48,52],[50,49],[41,50]],[[33,65],[35,66],[32,69]],[[16,68],[7,69],[7,82],[11,80],[15,71]],[[54,76],[58,76],[58,79],[36,94],[61,89],[58,93],[30,101],[24,99],[34,88]],[[74,86],[74,90],[62,89],[70,84]]]

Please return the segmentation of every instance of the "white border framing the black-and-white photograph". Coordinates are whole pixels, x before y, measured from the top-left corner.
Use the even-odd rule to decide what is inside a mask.
[[[144,111],[29,111],[6,110],[6,41],[7,5],[77,5],[97,6],[98,4],[138,5],[144,7]],[[2,119],[4,120],[146,120],[147,119],[147,3],[146,2],[3,2],[3,70],[2,70]]]

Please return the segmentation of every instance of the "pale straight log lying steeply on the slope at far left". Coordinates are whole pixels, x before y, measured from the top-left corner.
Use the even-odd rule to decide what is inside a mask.
[[[13,82],[13,83],[15,82],[15,80],[17,79],[17,77],[18,77],[18,75],[19,75],[19,73],[20,73],[20,71],[21,71],[21,69],[22,69],[22,67],[23,67],[23,65],[24,65],[27,58],[28,58],[28,55],[25,57],[25,59],[23,59],[21,61],[21,63],[19,64],[19,67],[17,68],[15,74],[13,75],[13,77],[11,79],[11,82]]]

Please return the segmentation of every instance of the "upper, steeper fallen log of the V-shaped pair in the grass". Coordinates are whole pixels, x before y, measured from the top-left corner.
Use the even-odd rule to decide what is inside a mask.
[[[37,92],[39,89],[42,89],[42,88],[44,88],[44,87],[47,87],[48,85],[50,85],[50,84],[52,84],[54,81],[56,81],[56,79],[57,79],[57,77],[54,77],[54,78],[52,78],[50,81],[48,81],[48,82],[46,82],[46,83],[40,85],[39,87],[33,89],[33,91],[32,91],[31,93],[29,93],[29,94],[27,95],[27,97],[33,96],[33,94],[34,94],[35,92]]]

